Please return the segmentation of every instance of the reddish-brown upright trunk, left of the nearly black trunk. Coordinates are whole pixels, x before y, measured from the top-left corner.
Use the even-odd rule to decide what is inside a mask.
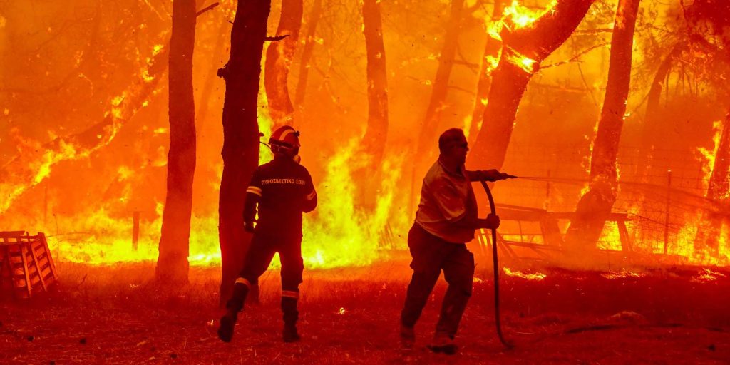
[[[193,210],[196,162],[193,100],[195,23],[195,0],[174,0],[169,55],[170,149],[167,155],[167,196],[155,276],[158,280],[177,283],[188,281]]]

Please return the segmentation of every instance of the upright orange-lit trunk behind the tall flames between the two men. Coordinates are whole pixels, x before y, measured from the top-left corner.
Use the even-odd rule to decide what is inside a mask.
[[[367,52],[367,101],[368,120],[362,151],[370,155],[368,164],[361,169],[369,174],[380,172],[380,164],[388,134],[388,75],[385,68],[385,45],[383,45],[383,23],[380,17],[380,1],[363,2],[363,23],[365,48]],[[362,199],[374,202],[379,178],[363,178]]]

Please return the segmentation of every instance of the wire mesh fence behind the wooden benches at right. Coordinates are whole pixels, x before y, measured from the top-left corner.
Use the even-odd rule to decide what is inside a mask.
[[[634,250],[696,258],[698,231],[708,220],[723,222],[723,204],[705,198],[710,164],[693,151],[654,150],[649,157],[638,147],[621,147],[618,156],[618,196],[613,212],[626,213],[626,226]],[[532,207],[548,212],[575,212],[588,187],[590,146],[512,144],[504,171],[527,178],[496,184],[495,199],[502,204]],[[569,220],[560,223],[565,231]],[[722,223],[720,223],[722,224]],[[530,239],[536,228],[524,223],[503,224],[502,231],[518,232]],[[600,248],[621,250],[617,222],[604,226]],[[539,230],[539,227],[537,228]],[[527,231],[527,234],[524,232]],[[726,239],[715,237],[715,261],[723,256]],[[529,237],[529,238],[526,238]],[[717,255],[719,253],[719,255]],[[704,255],[704,253],[702,253]]]

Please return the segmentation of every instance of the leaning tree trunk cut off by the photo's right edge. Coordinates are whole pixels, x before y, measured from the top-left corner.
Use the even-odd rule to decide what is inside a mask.
[[[710,182],[707,184],[707,199],[715,203],[726,203],[730,193],[730,110],[725,117],[715,163],[712,164]],[[722,220],[705,214],[699,223],[694,241],[694,251],[698,254],[709,253],[718,257]]]

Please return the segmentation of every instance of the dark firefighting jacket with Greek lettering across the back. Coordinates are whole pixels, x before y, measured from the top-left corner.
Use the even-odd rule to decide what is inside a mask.
[[[317,207],[317,192],[310,172],[286,157],[258,166],[246,189],[245,222],[254,221],[256,204],[256,232],[301,235],[301,213]]]

